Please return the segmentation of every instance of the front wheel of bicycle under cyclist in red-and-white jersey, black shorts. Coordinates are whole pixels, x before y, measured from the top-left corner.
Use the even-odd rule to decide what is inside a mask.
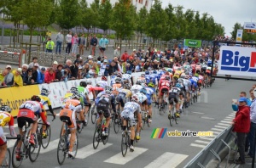
[[[32,144],[29,145],[28,156],[29,156],[29,160],[31,162],[36,161],[38,159],[38,155],[40,153],[40,149],[42,146],[41,145],[42,139],[41,139],[40,132],[37,132],[37,138],[35,136],[34,141],[35,141],[34,145],[32,145]]]

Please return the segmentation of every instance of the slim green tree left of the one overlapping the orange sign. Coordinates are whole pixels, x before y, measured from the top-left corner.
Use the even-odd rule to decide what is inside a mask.
[[[101,28],[104,33],[110,28],[112,20],[112,5],[110,0],[102,1],[99,10],[99,28]]]

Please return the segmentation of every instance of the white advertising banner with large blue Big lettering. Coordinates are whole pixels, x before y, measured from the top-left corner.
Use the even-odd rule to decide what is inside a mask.
[[[218,74],[256,76],[256,48],[222,46],[218,61]]]

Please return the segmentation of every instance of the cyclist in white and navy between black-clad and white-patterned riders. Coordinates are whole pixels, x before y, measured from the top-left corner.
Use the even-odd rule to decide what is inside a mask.
[[[116,102],[121,104],[121,111],[124,109],[125,107],[125,103],[130,101],[131,96],[132,96],[132,92],[129,90],[130,84],[129,83],[125,83],[124,88],[119,90],[119,93],[117,95],[117,97],[115,98]]]

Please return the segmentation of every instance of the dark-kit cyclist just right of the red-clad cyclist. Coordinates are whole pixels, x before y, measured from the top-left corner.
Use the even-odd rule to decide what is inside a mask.
[[[173,101],[175,102],[176,104],[176,112],[175,112],[175,115],[176,117],[179,117],[179,114],[178,114],[178,109],[179,109],[179,104],[178,104],[178,96],[179,96],[179,93],[181,92],[181,89],[179,88],[180,84],[177,83],[175,87],[172,87],[172,89],[169,91],[169,115],[168,115],[168,119],[170,120],[171,119],[171,112],[172,112],[172,106],[173,106]]]

